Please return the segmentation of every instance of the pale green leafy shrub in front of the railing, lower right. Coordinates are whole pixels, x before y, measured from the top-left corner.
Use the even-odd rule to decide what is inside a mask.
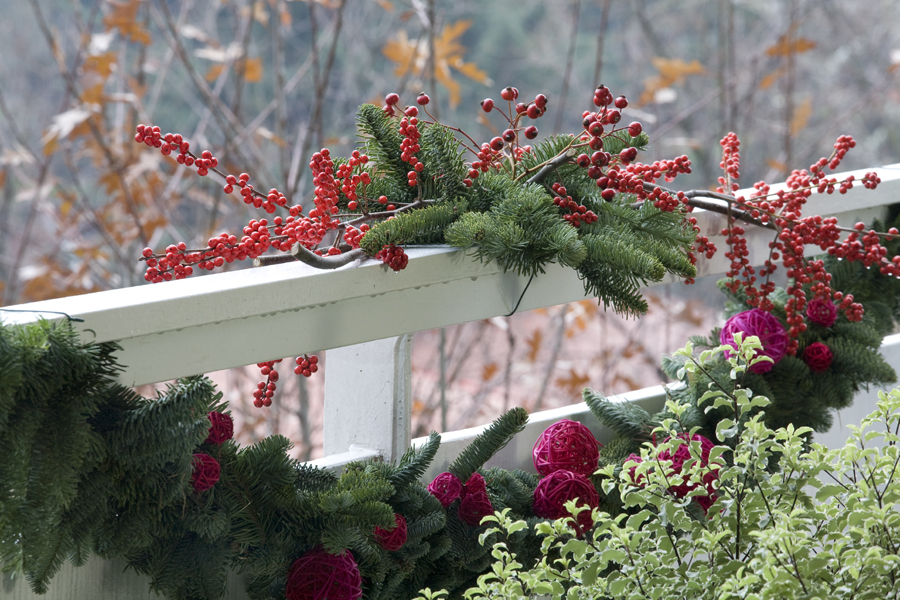
[[[755,338],[729,360],[727,377],[739,379],[752,362]],[[692,357],[688,348],[683,357]],[[686,371],[707,369],[715,352],[686,360]],[[675,474],[661,458],[667,441],[645,444],[633,470],[601,469],[607,494],[626,511],[596,511],[586,539],[573,539],[562,520],[534,526],[543,537],[537,563],[520,560],[507,539],[529,528],[498,515],[482,536],[495,562],[466,598],[888,598],[897,593],[900,556],[900,390],[880,393],[876,411],[863,420],[844,448],[808,444],[808,428],[770,428],[760,409],[769,400],[749,390],[714,386],[701,405],[728,416],[717,439],[730,440],[700,455]],[[656,430],[675,439],[687,405]],[[779,464],[780,469],[773,465]],[[705,494],[712,474],[715,503],[704,514],[690,497],[673,491],[673,479]],[[679,481],[680,483],[680,481]],[[434,597],[423,595],[420,598]]]

